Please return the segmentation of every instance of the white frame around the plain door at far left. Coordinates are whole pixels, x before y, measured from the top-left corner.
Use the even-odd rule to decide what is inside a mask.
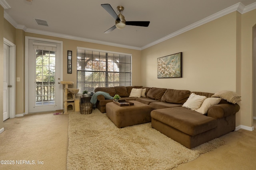
[[[4,44],[10,47],[10,65],[9,65],[9,83],[12,88],[9,88],[10,98],[9,98],[9,112],[10,118],[16,117],[16,45],[4,38]],[[12,69],[11,69],[12,68]],[[13,104],[11,106],[11,104]]]

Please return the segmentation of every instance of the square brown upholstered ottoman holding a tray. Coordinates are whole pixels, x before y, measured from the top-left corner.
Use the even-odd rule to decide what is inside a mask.
[[[153,107],[135,100],[130,100],[129,102],[134,103],[134,105],[121,107],[113,102],[106,104],[106,114],[118,128],[151,121],[150,112],[154,110]]]

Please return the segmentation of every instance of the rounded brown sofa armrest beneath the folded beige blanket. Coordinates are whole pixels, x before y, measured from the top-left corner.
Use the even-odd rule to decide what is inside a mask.
[[[220,119],[229,115],[236,114],[240,109],[238,104],[217,104],[208,110],[207,115],[214,119]]]

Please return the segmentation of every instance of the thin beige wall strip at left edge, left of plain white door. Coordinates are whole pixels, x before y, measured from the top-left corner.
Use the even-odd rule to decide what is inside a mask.
[[[0,6],[0,61],[4,59],[4,8]],[[3,62],[0,65],[0,72],[3,72]],[[3,74],[0,74],[0,82],[3,82]],[[0,130],[3,123],[3,83],[0,83]]]

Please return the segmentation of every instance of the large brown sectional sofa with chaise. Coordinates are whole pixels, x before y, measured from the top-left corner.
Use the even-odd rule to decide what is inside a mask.
[[[132,88],[146,88],[146,98],[129,98]],[[135,100],[152,106],[152,127],[189,149],[234,131],[236,112],[240,109],[238,104],[226,100],[221,100],[219,104],[210,107],[206,115],[181,107],[192,93],[189,90],[117,86],[96,88],[94,91],[104,91],[110,96],[119,94],[122,100]],[[206,92],[193,93],[207,98],[213,95]],[[102,95],[97,99],[96,107],[102,113],[106,112],[106,103],[112,100],[105,100]]]

